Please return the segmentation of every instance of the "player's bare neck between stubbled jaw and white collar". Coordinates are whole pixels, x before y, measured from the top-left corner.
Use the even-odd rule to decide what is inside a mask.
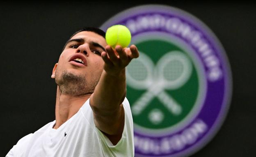
[[[55,118],[56,123],[53,128],[57,129],[63,123],[65,123],[69,118],[71,118],[81,106],[89,99],[91,93],[88,95],[82,96],[73,96],[62,94],[57,86],[57,95],[56,95],[56,105],[55,105]]]

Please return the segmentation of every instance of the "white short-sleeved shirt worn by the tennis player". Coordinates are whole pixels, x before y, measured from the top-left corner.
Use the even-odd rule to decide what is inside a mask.
[[[133,117],[130,104],[123,101],[125,125],[114,146],[96,128],[89,99],[59,128],[55,120],[21,138],[6,157],[134,157]]]

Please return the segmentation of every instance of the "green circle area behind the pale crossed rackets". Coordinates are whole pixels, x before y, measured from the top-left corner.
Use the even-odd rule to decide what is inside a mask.
[[[170,51],[180,51],[181,53],[186,55],[187,58],[192,63],[191,64],[192,73],[190,75],[190,78],[187,80],[187,82],[183,86],[175,90],[164,90],[164,92],[167,93],[169,97],[172,97],[176,102],[178,102],[178,104],[181,105],[182,112],[180,115],[172,114],[164,106],[164,104],[160,102],[159,98],[156,96],[154,96],[151,102],[149,102],[146,108],[144,108],[144,110],[139,115],[133,114],[133,122],[141,127],[148,128],[148,129],[164,129],[164,128],[169,128],[171,126],[178,124],[190,113],[190,111],[192,111],[199,94],[198,73],[196,71],[196,68],[190,56],[187,55],[190,52],[185,52],[181,47],[174,45],[170,42],[159,40],[159,39],[142,41],[142,42],[136,43],[136,46],[139,49],[139,51],[146,53],[146,55],[148,55],[151,58],[151,60],[155,65],[158,62],[158,60],[160,60],[160,58],[163,55],[165,55],[165,53]],[[168,74],[164,74],[164,75],[168,75]],[[168,75],[168,77],[170,79],[176,78],[175,75],[173,76]],[[147,92],[147,89],[138,90],[127,85],[127,98],[130,102],[130,106],[133,107],[133,104],[137,100],[139,100],[139,98],[146,92]],[[162,122],[157,124],[151,122],[149,119],[149,114],[155,108],[158,108],[165,117],[164,119],[162,119]]]

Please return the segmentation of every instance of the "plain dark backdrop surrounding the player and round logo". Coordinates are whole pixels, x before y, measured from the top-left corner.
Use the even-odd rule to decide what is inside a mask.
[[[231,64],[233,94],[215,137],[192,157],[256,157],[256,5],[254,2],[2,2],[0,4],[0,156],[55,119],[50,78],[66,40],[84,26],[142,4],[166,4],[199,18]]]

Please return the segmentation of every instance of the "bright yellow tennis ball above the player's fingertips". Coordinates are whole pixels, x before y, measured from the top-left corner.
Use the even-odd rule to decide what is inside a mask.
[[[120,45],[123,48],[130,44],[131,33],[126,26],[121,24],[113,25],[106,31],[106,41],[113,49],[116,45]]]

